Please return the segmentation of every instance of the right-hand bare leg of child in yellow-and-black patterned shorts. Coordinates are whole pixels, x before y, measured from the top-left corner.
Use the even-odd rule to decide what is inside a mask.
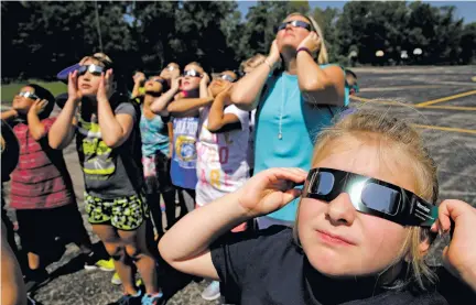
[[[155,259],[147,248],[145,229],[147,224],[144,221],[137,230],[118,230],[118,233],[122,244],[125,244],[127,255],[136,262],[145,285],[145,292],[148,294],[156,294],[160,290],[156,279]]]

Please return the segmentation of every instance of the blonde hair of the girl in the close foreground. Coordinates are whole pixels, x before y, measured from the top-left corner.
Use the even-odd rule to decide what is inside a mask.
[[[324,129],[316,139],[314,146],[313,161],[315,164],[320,160],[333,153],[333,143],[345,141],[344,137],[355,137],[359,140],[379,140],[383,149],[399,151],[409,156],[410,166],[414,175],[415,195],[435,203],[439,193],[439,182],[436,165],[424,146],[422,137],[415,129],[402,120],[389,117],[375,110],[359,109],[348,115],[333,127]],[[299,214],[298,214],[299,216]],[[296,216],[294,225],[294,240],[299,244]],[[435,273],[424,261],[425,254],[420,251],[420,243],[428,240],[432,242],[433,238],[429,228],[410,227],[407,238],[400,249],[396,261],[390,264],[390,269],[403,258],[409,259],[407,276],[398,285],[389,288],[401,287],[407,284],[416,284],[416,287],[425,290],[428,283],[433,284],[436,281]],[[387,269],[387,270],[388,270]]]

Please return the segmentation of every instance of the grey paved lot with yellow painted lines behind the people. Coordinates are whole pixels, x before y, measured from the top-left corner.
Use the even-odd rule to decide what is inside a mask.
[[[355,68],[361,91],[353,99],[353,105],[372,101],[372,107],[388,109],[416,124],[440,166],[440,198],[458,198],[473,206],[476,206],[476,83],[472,81],[475,70],[474,66]],[[83,177],[74,146],[65,150],[65,159],[82,203]],[[441,250],[443,242],[439,243]],[[109,282],[112,273],[71,268],[68,262],[77,254],[78,250],[68,246],[62,260],[48,268],[55,272],[63,266],[60,273],[65,274],[41,287],[34,294],[37,301],[44,305],[96,305],[120,296],[120,288]],[[437,257],[436,251],[435,263]],[[205,282],[192,282],[167,304],[215,304],[199,297],[205,286]]]

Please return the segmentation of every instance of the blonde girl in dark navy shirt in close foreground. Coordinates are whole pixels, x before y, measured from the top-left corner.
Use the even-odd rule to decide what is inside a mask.
[[[257,174],[178,221],[159,244],[162,257],[182,272],[220,280],[240,304],[446,304],[424,258],[431,232],[448,231],[453,219],[444,260],[476,290],[476,211],[459,200],[434,206],[436,168],[412,128],[356,112],[316,143],[309,174]],[[293,229],[223,236],[299,196]]]

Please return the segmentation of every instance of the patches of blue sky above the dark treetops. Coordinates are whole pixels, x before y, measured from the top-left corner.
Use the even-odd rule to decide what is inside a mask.
[[[346,1],[309,1],[312,9],[320,7],[325,9],[327,7],[343,9]],[[431,3],[434,7],[454,6],[456,7],[456,17],[464,18],[465,23],[476,21],[476,1],[423,1]],[[257,1],[238,1],[238,9],[241,17],[245,18],[248,9],[253,7]]]

